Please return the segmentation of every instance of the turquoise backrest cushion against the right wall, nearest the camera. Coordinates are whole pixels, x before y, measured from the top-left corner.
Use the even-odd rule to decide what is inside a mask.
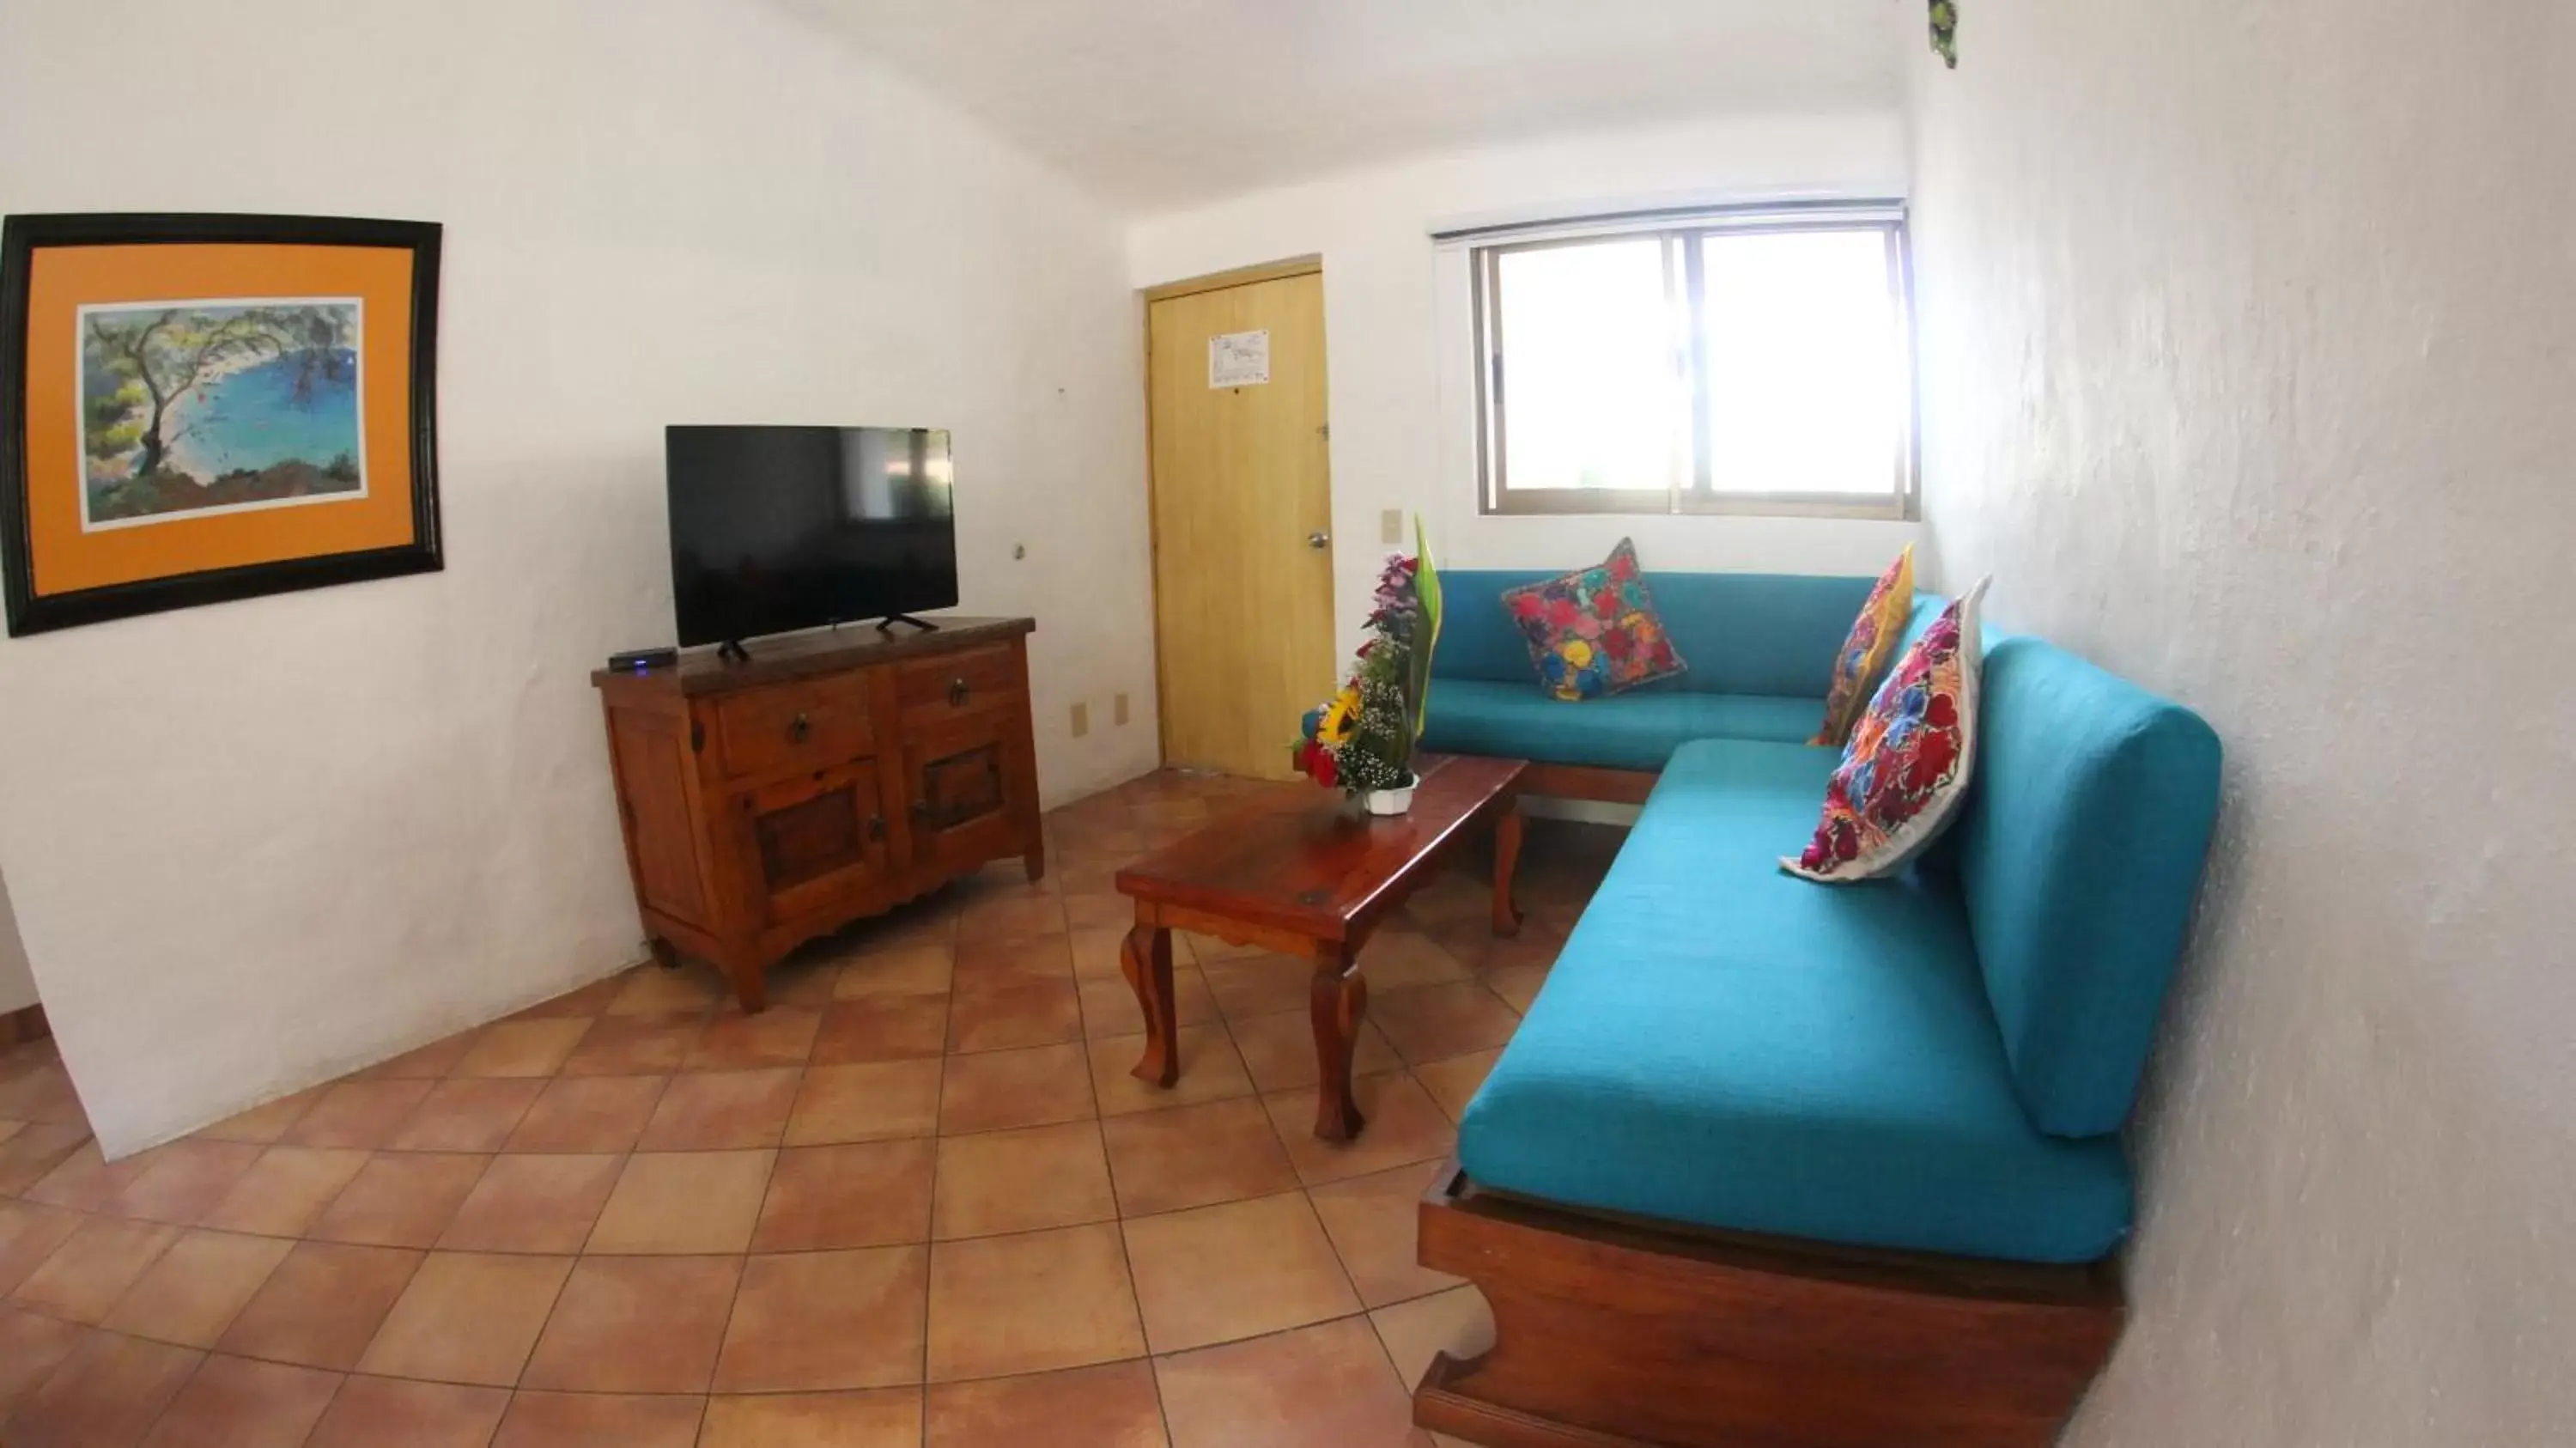
[[[2138,1095],[2218,817],[2218,734],[2040,639],[1991,639],[1960,894],[2040,1131],[2117,1131]]]

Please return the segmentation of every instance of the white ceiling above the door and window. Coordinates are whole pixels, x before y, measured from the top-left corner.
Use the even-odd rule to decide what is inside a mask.
[[[1893,108],[1891,0],[781,0],[1139,209],[1677,116]]]

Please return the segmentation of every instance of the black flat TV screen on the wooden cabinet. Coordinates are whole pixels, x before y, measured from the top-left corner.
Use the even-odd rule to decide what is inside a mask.
[[[670,428],[680,644],[958,600],[940,428]]]

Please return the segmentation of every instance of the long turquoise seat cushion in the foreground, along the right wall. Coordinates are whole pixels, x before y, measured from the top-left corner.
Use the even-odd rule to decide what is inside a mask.
[[[1466,1108],[1479,1183],[1826,1242],[2084,1262],[2130,1224],[2115,1139],[2032,1129],[1968,917],[1922,873],[1775,861],[1832,750],[1685,745]]]

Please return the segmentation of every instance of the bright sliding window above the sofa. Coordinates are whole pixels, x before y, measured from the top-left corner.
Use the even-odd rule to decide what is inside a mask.
[[[1911,510],[1891,209],[1494,240],[1471,276],[1486,513]]]

